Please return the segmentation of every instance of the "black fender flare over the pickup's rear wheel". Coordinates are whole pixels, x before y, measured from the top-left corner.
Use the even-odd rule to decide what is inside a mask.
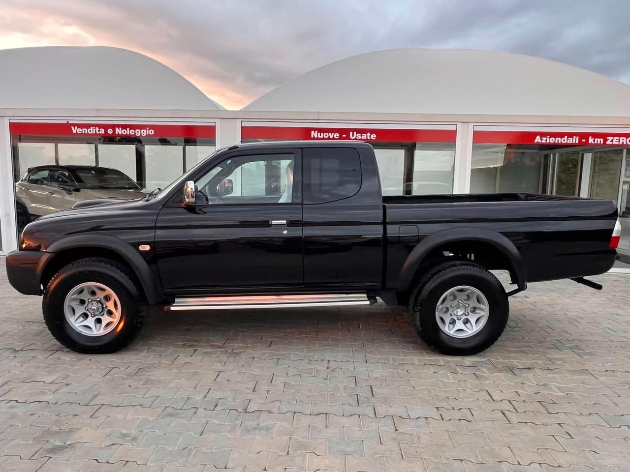
[[[484,242],[498,249],[501,254],[510,261],[510,264],[512,264],[510,274],[516,279],[518,289],[525,290],[527,288],[525,263],[512,241],[501,233],[485,228],[455,228],[433,233],[425,237],[425,239],[421,240],[416,247],[413,248],[404,261],[396,289],[403,291],[410,288],[416,269],[418,269],[422,261],[433,249],[449,242],[466,241]]]

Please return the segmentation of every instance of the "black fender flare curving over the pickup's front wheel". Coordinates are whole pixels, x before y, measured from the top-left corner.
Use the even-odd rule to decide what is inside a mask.
[[[70,236],[55,241],[47,247],[46,252],[54,254],[63,250],[77,249],[79,247],[102,247],[103,249],[116,252],[116,254],[127,261],[132,271],[134,271],[149,303],[155,304],[164,299],[162,288],[159,286],[159,281],[157,281],[156,276],[149,268],[149,264],[147,264],[144,258],[140,256],[131,245],[116,237],[104,234]],[[50,260],[54,261],[54,257],[51,257]],[[43,269],[44,267],[41,268],[42,271]]]

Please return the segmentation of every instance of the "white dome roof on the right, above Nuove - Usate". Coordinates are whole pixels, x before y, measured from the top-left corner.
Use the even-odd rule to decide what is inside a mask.
[[[324,65],[244,110],[630,116],[630,86],[539,57],[407,48]]]

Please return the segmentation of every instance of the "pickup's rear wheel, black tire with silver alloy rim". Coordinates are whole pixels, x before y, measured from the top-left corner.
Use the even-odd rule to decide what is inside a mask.
[[[411,300],[420,337],[443,354],[467,356],[492,346],[508,321],[505,289],[484,267],[447,262],[420,281]]]

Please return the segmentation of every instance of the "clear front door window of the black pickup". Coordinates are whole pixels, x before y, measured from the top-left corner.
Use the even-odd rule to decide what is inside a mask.
[[[198,203],[292,203],[293,154],[227,159],[195,181]]]

